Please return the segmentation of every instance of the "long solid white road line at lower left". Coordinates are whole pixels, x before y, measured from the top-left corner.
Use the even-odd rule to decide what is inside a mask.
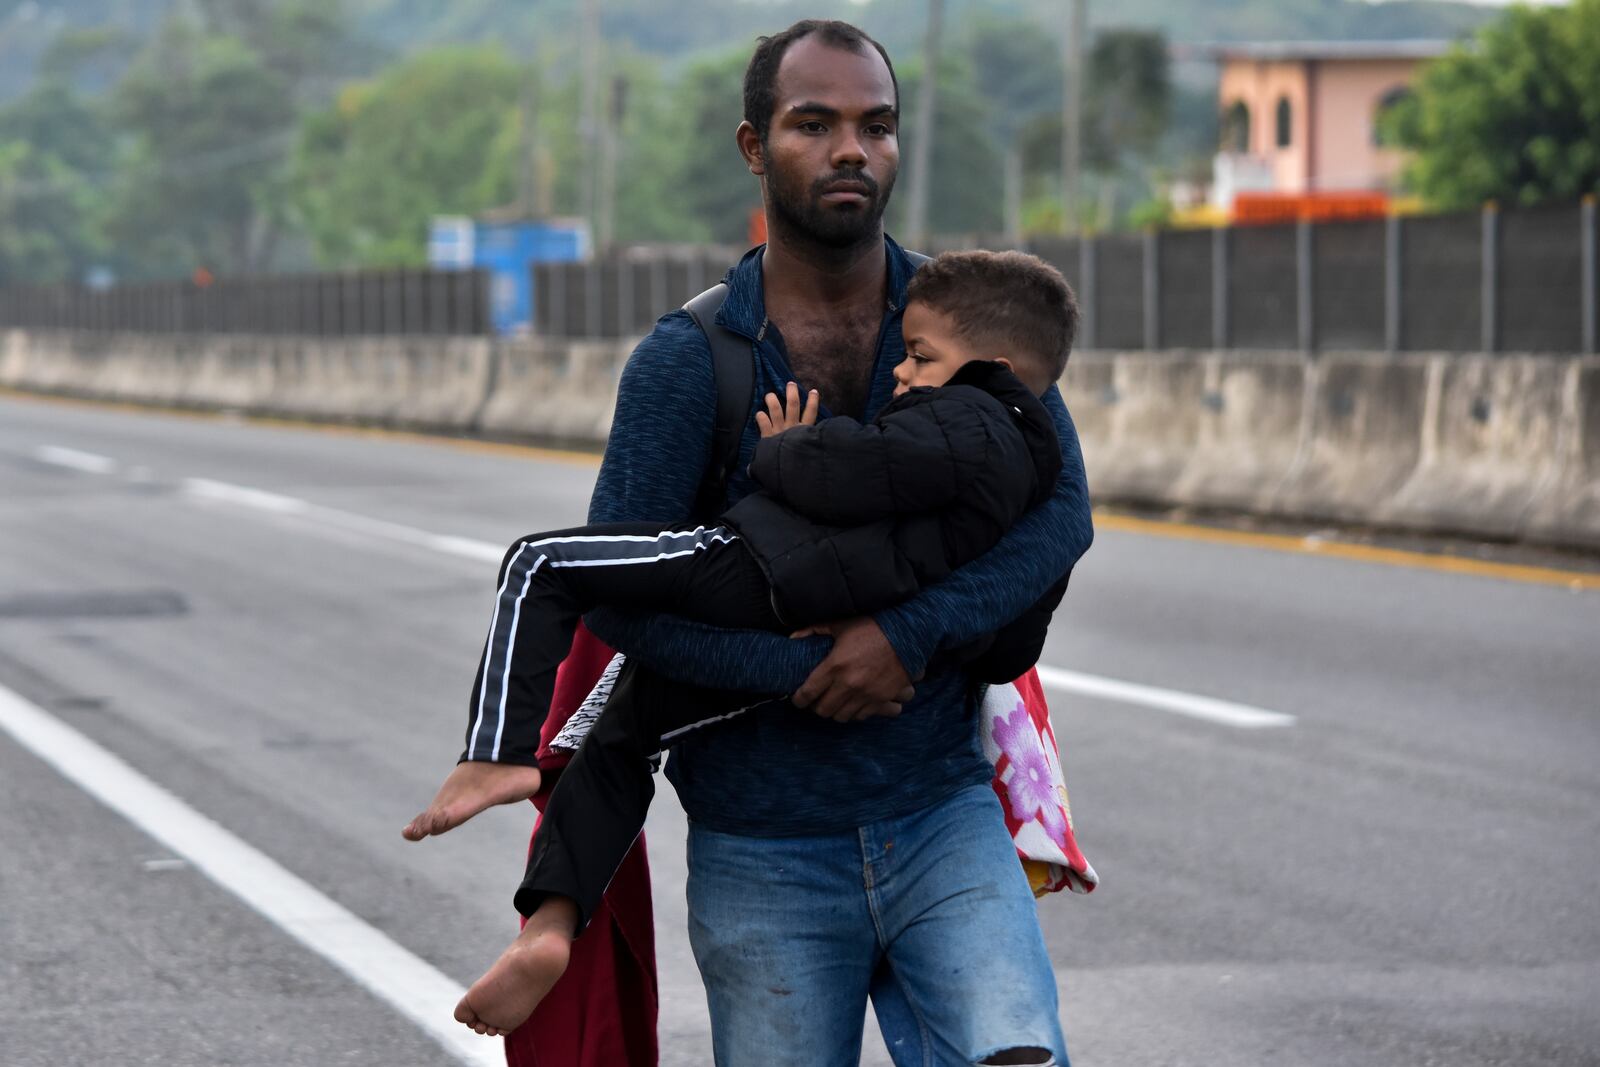
[[[504,1067],[502,1041],[478,1037],[451,1017],[464,990],[430,963],[5,686],[0,686],[0,729],[349,974],[459,1062]]]

